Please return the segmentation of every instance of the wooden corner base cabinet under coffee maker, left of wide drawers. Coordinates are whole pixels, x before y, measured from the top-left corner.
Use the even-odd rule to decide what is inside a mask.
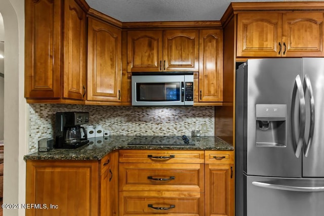
[[[118,151],[101,160],[27,160],[26,216],[118,216]]]

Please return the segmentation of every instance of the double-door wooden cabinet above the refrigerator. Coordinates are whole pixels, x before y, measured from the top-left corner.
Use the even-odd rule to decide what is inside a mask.
[[[237,57],[321,57],[323,13],[239,13]]]

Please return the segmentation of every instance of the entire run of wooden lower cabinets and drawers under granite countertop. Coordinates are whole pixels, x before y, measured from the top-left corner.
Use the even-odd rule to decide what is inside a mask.
[[[27,160],[26,216],[234,216],[233,164],[233,151],[204,150]]]

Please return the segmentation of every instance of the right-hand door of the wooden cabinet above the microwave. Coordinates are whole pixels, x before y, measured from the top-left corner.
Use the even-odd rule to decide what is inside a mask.
[[[164,31],[164,71],[198,71],[198,62],[199,30]]]

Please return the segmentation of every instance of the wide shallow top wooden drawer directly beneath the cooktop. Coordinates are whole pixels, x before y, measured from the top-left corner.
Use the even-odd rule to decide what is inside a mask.
[[[204,151],[120,150],[123,163],[204,163]]]

